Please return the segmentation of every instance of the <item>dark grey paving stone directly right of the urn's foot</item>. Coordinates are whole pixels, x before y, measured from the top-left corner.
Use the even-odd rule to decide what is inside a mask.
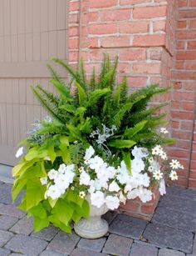
[[[110,233],[117,233],[128,238],[140,238],[148,222],[139,218],[118,215],[110,224]]]

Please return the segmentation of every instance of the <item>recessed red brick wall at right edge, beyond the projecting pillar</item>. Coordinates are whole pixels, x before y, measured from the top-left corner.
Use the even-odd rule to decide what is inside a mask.
[[[196,1],[180,0],[176,29],[176,63],[171,109],[173,137],[177,138],[172,156],[184,162],[179,184],[196,188]]]

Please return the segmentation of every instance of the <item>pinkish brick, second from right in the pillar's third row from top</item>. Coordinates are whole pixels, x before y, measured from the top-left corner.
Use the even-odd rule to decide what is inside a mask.
[[[130,22],[120,23],[120,33],[142,33],[149,31],[149,22]]]

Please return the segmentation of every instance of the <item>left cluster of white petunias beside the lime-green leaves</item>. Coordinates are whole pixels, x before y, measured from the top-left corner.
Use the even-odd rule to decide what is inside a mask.
[[[73,182],[76,175],[74,169],[74,164],[66,165],[62,163],[58,170],[51,169],[47,173],[47,177],[40,178],[42,185],[47,185],[45,198],[50,197],[52,200],[60,198]]]

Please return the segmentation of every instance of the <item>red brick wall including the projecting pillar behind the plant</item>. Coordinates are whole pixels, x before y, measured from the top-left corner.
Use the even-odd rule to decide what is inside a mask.
[[[189,2],[189,6],[188,5]],[[196,4],[194,0],[71,0],[69,6],[69,62],[82,57],[87,73],[98,71],[103,53],[119,57],[118,79],[126,74],[130,90],[174,82],[174,91],[154,101],[172,99],[166,111],[177,143],[171,157],[184,163],[179,184],[196,187],[196,135],[193,135],[194,73],[196,59]],[[178,6],[179,4],[179,6]],[[178,28],[177,26],[178,19]],[[176,50],[177,48],[177,50]],[[176,60],[177,59],[177,60]],[[176,60],[176,62],[175,62]],[[196,132],[195,132],[196,133]],[[190,154],[190,147],[193,153]],[[189,159],[191,161],[191,172]],[[189,178],[188,178],[188,174]],[[130,200],[122,209],[151,218],[159,193],[147,204]]]

